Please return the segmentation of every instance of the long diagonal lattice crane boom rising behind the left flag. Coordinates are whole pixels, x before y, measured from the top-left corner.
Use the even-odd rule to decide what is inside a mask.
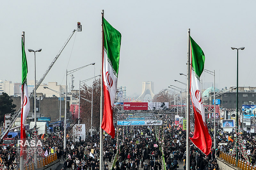
[[[58,54],[55,56],[55,58],[53,59],[52,63],[50,64],[50,66],[47,68],[47,70],[45,71],[45,73],[43,74],[42,78],[37,82],[36,84],[36,89],[39,87],[39,85],[43,82],[45,76],[47,75],[47,73],[51,70],[53,64],[57,61],[57,59],[59,58],[61,52],[63,51],[63,49],[66,47],[66,45],[68,44],[68,41],[71,39],[71,37],[74,35],[74,33],[76,32],[76,30],[73,30],[72,33],[68,36],[68,39],[66,40],[66,42],[64,43],[64,45],[60,48],[60,51],[58,52]],[[29,95],[29,98],[31,98],[34,95],[34,91],[35,88],[32,90],[32,92]],[[11,129],[12,125],[14,124],[15,120],[19,117],[21,112],[21,107],[20,109],[16,112],[16,114],[13,116],[11,122],[9,123],[9,127],[5,128],[3,133],[1,134],[1,139],[3,139],[3,137],[8,133],[8,131]]]

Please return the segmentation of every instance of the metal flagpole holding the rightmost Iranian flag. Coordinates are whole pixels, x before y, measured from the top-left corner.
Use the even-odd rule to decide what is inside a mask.
[[[187,53],[187,137],[186,137],[186,170],[189,170],[189,85],[190,85],[190,28],[188,28],[188,53]]]

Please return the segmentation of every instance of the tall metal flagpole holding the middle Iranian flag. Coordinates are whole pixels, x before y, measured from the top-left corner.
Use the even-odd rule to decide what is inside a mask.
[[[100,170],[103,170],[103,129],[101,129],[102,117],[103,117],[103,22],[104,10],[101,10],[101,70],[100,70]]]

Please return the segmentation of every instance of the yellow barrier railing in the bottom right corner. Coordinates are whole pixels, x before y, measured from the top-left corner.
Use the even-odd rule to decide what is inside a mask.
[[[227,153],[220,151],[220,159],[223,159],[225,162],[228,162],[229,164],[242,169],[242,170],[256,170],[255,165],[251,165],[249,162],[245,162],[243,160],[238,159],[237,165],[236,165],[236,157],[231,156]]]

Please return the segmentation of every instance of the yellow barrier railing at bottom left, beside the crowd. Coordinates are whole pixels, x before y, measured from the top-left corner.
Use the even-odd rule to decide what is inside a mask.
[[[36,163],[36,167],[34,167],[34,163],[30,163],[28,165],[25,165],[24,169],[25,170],[35,170],[35,169],[38,169],[38,168],[42,168],[46,165],[49,165],[50,163],[52,163],[55,160],[57,160],[57,154],[56,153],[54,153],[52,155],[49,155],[45,158],[39,159]],[[20,170],[20,168],[19,168],[19,170]]]

